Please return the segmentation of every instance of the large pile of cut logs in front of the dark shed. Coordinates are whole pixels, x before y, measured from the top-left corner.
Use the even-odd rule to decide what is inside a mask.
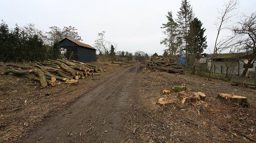
[[[101,68],[97,69],[95,65],[85,64],[66,58],[48,60],[44,62],[35,61],[34,66],[23,66],[18,64],[7,64],[12,67],[2,74],[13,73],[16,76],[22,76],[30,80],[40,82],[42,87],[47,85],[54,86],[55,81],[64,81],[66,83],[77,82],[78,79],[84,79],[86,76],[98,74]]]

